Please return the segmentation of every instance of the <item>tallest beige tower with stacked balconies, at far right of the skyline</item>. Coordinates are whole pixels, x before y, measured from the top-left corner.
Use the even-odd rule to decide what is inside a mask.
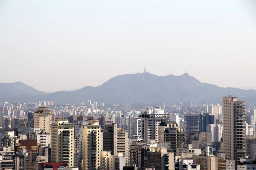
[[[223,97],[223,147],[226,159],[234,159],[235,164],[246,156],[245,102],[237,97]]]

